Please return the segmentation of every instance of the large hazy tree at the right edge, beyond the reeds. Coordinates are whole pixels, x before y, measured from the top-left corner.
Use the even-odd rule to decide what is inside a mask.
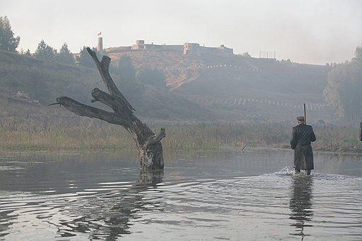
[[[334,66],[328,74],[323,91],[329,105],[340,119],[361,119],[362,112],[362,46],[356,48],[355,57]]]

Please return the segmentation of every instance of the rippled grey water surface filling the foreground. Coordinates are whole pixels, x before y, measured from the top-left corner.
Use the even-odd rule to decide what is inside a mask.
[[[166,159],[167,160],[167,159]],[[0,155],[0,240],[361,240],[362,163],[293,153]]]

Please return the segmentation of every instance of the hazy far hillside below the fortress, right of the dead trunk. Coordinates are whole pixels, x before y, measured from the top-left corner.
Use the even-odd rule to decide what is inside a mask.
[[[329,71],[326,66],[240,55],[190,56],[170,50],[105,50],[113,64],[117,64],[122,54],[127,54],[137,68],[163,70],[170,92],[207,108],[218,119],[283,121],[300,114],[304,102],[311,119],[333,117],[322,94]]]

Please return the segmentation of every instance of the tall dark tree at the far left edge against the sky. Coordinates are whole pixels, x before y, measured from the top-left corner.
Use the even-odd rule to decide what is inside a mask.
[[[0,49],[16,52],[20,37],[14,37],[8,17],[0,17]]]

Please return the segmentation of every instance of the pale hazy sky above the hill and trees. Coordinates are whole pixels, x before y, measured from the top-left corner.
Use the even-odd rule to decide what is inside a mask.
[[[362,45],[360,0],[0,0],[0,16],[30,52],[41,40],[80,52],[100,32],[105,48],[197,42],[307,64],[351,60]]]

